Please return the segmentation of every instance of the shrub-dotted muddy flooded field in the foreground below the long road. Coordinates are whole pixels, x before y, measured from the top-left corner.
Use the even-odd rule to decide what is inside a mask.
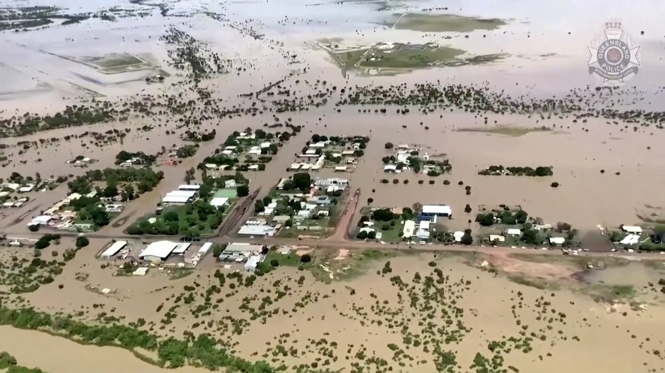
[[[305,253],[311,261],[301,260]],[[664,276],[665,267],[636,263],[648,273],[636,277],[636,267],[622,271],[616,267],[622,261],[611,261],[612,272],[589,273],[590,285],[584,285],[569,275],[597,261],[513,258],[501,252],[475,256],[305,248],[271,254],[269,261],[281,265],[259,276],[207,266],[174,279],[158,271],[146,277],[112,277],[110,268],[100,271],[92,258],[79,254],[53,283],[24,296],[38,310],[78,313],[74,319],[84,323],[129,323],[148,331],[156,340],[129,345],[143,360],[171,368],[240,364],[213,358],[221,356],[217,348],[293,372],[622,371],[617,366],[644,366],[646,372],[662,366],[665,350],[656,331],[662,328],[665,295],[654,281]],[[112,291],[90,291],[102,286]],[[25,320],[10,323],[25,327]],[[96,344],[128,343],[106,339],[106,327],[92,334],[58,323],[49,328]],[[38,341],[53,338],[5,331]],[[199,334],[218,338],[217,346],[200,339],[194,344],[161,342],[170,336],[178,340],[183,333],[194,340]],[[0,350],[25,359],[23,347],[3,340]],[[80,348],[86,347],[65,355],[76,356]],[[63,372],[53,370],[58,364],[37,360],[45,370]],[[133,360],[119,360],[114,368],[142,364]],[[84,362],[80,368],[92,366]]]

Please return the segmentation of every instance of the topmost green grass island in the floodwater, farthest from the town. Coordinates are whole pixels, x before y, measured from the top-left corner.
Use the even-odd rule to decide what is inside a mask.
[[[507,25],[501,19],[484,19],[448,14],[394,14],[384,25],[398,30],[420,31],[423,33],[470,33],[476,30],[495,30]]]

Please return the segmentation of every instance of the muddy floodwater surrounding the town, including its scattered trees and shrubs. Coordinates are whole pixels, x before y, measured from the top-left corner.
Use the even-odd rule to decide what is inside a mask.
[[[371,206],[384,207],[448,204],[449,230],[468,228],[481,205],[521,206],[546,223],[571,224],[598,247],[608,241],[598,226],[658,220],[665,206],[665,52],[656,17],[662,4],[603,4],[602,9],[622,9],[626,35],[640,46],[643,62],[629,82],[609,88],[587,66],[588,46],[610,17],[594,3],[517,0],[505,7],[489,0],[452,1],[450,9],[436,1],[60,3],[68,12],[117,17],[111,22],[81,16],[71,25],[3,32],[3,181],[13,172],[71,179],[116,167],[120,151],[168,154],[191,144],[183,139],[186,133],[214,129],[215,139],[197,143],[196,155],[176,165],[165,165],[168,157],[160,155],[154,168],[164,171],[161,183],[128,202],[99,232],[114,237],[154,210],[233,131],[291,132],[288,124],[302,130],[283,143],[265,171],[243,173],[251,191],[259,190],[257,198],[291,175],[287,169],[314,134],[370,138],[352,173],[323,169],[314,175],[347,178],[350,190],[360,188],[362,194],[341,219],[337,249],[323,241],[321,247],[294,246],[291,254],[271,257],[280,265],[260,276],[213,258],[193,271],[151,268],[145,276],[128,276],[118,263],[94,258],[108,244],[100,238],[91,238],[75,258],[68,251],[72,238],[39,254],[3,246],[3,307],[34,307],[87,325],[132,323],[160,341],[205,334],[238,359],[267,362],[273,372],[665,370],[665,287],[659,285],[665,268],[657,254],[630,263],[609,257],[600,263],[599,255],[594,261],[535,252],[523,257],[508,248],[435,256],[350,250],[336,239],[346,233],[354,208],[350,224],[356,224],[368,198]],[[5,6],[16,5],[0,0],[0,8]],[[121,16],[120,8],[144,13]],[[402,26],[385,26],[400,17],[406,17]],[[414,25],[420,21],[426,25]],[[372,68],[360,74],[340,68],[329,54],[385,46],[376,55],[386,56],[392,43],[439,44],[454,48],[456,60],[445,68],[411,64],[390,70],[380,66],[389,61],[370,60]],[[349,60],[364,58],[349,53]],[[501,59],[483,60],[487,55]],[[142,62],[106,70],[83,63],[110,63],[109,58],[113,64],[119,58]],[[146,83],[157,73],[164,82]],[[67,106],[102,109],[84,115],[94,124],[41,131],[62,123],[57,113]],[[395,154],[386,143],[416,144],[421,155],[448,159],[452,171],[438,177],[385,173],[382,158]],[[78,156],[96,162],[88,168],[67,163]],[[478,175],[492,165],[552,167],[553,176]],[[194,176],[194,183],[203,177],[198,170]],[[68,192],[63,183],[21,195],[29,202],[3,208],[0,233],[27,236],[27,222]],[[481,230],[473,222],[470,227]],[[301,261],[304,254],[311,261]],[[188,354],[183,346],[190,344],[174,345],[162,355],[134,352],[162,362],[180,356],[185,366],[178,372],[204,371],[192,367],[199,363],[194,356],[209,358],[209,350]],[[50,373],[166,372],[122,348],[11,325],[0,326],[3,350],[21,366]],[[211,368],[231,368],[215,364]]]

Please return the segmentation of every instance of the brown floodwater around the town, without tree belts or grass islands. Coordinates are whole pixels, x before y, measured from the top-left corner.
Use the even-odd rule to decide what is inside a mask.
[[[389,4],[396,8],[387,11],[404,11],[402,7],[420,11],[439,6],[433,4]],[[77,11],[88,11],[86,8],[93,6],[68,1],[63,1],[63,5]],[[94,6],[112,5],[111,1],[105,1]],[[0,91],[0,119],[21,117],[26,112],[53,115],[67,105],[94,105],[96,101],[113,102],[125,108],[123,105],[137,100],[155,105],[150,108],[152,115],[140,115],[139,110],[134,108],[130,110],[132,115],[124,121],[3,139],[2,143],[7,146],[3,152],[8,160],[4,162],[2,176],[6,179],[11,172],[17,171],[22,175],[40,173],[42,177],[73,177],[86,171],[66,164],[67,160],[77,155],[98,159],[92,169],[110,167],[120,150],[156,153],[162,147],[184,143],[180,135],[187,129],[216,129],[215,141],[201,143],[196,156],[185,159],[178,166],[159,168],[166,173],[164,181],[153,192],[129,204],[120,216],[119,219],[127,218],[127,224],[130,224],[136,217],[152,210],[161,195],[180,185],[185,171],[196,167],[204,157],[213,153],[232,131],[247,127],[264,128],[264,123],[286,123],[290,120],[294,125],[305,126],[302,133],[285,144],[266,171],[247,173],[251,187],[265,187],[262,189],[264,194],[277,183],[277,179],[288,175],[285,169],[291,164],[293,155],[303,148],[313,133],[319,133],[370,136],[371,141],[357,169],[346,175],[353,190],[362,189],[360,208],[370,196],[374,200],[372,206],[411,206],[414,202],[450,204],[454,211],[454,219],[446,222],[450,229],[467,228],[467,219],[475,214],[479,204],[519,204],[531,216],[539,216],[545,222],[565,221],[580,230],[593,230],[598,224],[634,224],[639,222],[636,212],[644,210],[645,206],[651,206],[647,208],[651,210],[665,206],[665,197],[660,193],[660,186],[665,184],[662,173],[665,149],[660,147],[663,135],[662,130],[653,124],[646,126],[644,123],[621,123],[618,120],[615,123],[602,117],[589,117],[586,122],[579,120],[575,123],[575,117],[567,113],[541,117],[537,114],[438,110],[424,114],[413,108],[408,115],[403,115],[395,113],[394,106],[381,114],[374,113],[374,109],[382,106],[360,108],[332,105],[345,97],[342,89],[351,90],[355,86],[404,84],[403,89],[408,90],[414,84],[441,82],[473,84],[477,88],[503,92],[505,96],[522,100],[569,96],[579,97],[585,105],[597,110],[612,107],[656,111],[662,104],[660,87],[665,86],[662,74],[665,53],[658,33],[659,23],[653,16],[645,19],[644,9],[655,15],[661,5],[638,1],[629,9],[621,8],[624,9],[622,21],[626,29],[642,46],[644,64],[640,74],[634,76],[622,90],[612,91],[611,94],[596,92],[593,87],[600,82],[587,72],[587,44],[602,30],[604,21],[612,16],[601,14],[603,12],[599,12],[593,3],[581,5],[563,1],[536,6],[515,1],[505,6],[488,1],[473,5],[453,1],[447,5],[451,11],[470,16],[513,19],[513,22],[503,29],[475,31],[469,33],[469,38],[456,35],[450,39],[444,39],[444,35],[384,29],[377,22],[385,13],[374,9],[376,3],[304,5],[302,2],[273,0],[261,6],[252,2],[219,5],[182,1],[171,5],[173,14],[207,9],[225,13],[228,19],[219,22],[202,13],[193,17],[162,18],[156,15],[143,21],[120,19],[116,23],[98,23],[90,20],[80,25],[43,31],[4,33],[5,38],[1,42],[3,54],[0,56],[0,82],[3,86]],[[606,7],[616,9],[610,5]],[[224,58],[231,60],[236,68],[229,74],[201,82],[199,88],[205,88],[210,93],[212,104],[198,104],[182,113],[166,111],[166,107],[174,106],[168,98],[177,97],[176,102],[180,103],[189,100],[200,103],[203,100],[199,100],[201,93],[183,84],[182,74],[166,62],[167,47],[158,39],[169,25],[176,25],[209,43]],[[265,38],[247,35],[249,28],[260,31]],[[211,33],[211,29],[215,33]],[[644,31],[644,35],[640,31]],[[447,45],[473,54],[500,52],[509,53],[511,57],[485,66],[372,78],[347,74],[344,78],[325,52],[305,43],[321,37],[341,38],[349,44],[436,39],[445,40]],[[144,76],[140,74],[109,77],[100,82],[102,78],[96,72],[54,56],[82,57],[110,52],[150,54],[156,66],[172,74],[172,77],[163,85],[150,86],[143,82]],[[258,104],[253,113],[221,113],[233,106],[249,108],[255,100],[241,98],[240,94],[257,92],[268,84],[289,77],[289,74],[293,74],[291,79],[279,88],[291,90],[289,99],[304,98],[309,101],[309,94],[331,90],[327,92],[329,104],[319,108],[312,106],[302,112],[277,113],[270,100],[285,96],[276,96],[278,98],[268,98]],[[295,80],[300,82],[297,84]],[[332,92],[332,86],[336,87],[335,92]],[[99,97],[81,97],[84,92],[80,87],[97,92]],[[368,112],[358,112],[358,108]],[[183,123],[193,119],[200,124]],[[429,129],[425,129],[426,126]],[[459,131],[500,126],[545,126],[553,131],[532,132],[517,137]],[[120,141],[116,135],[106,133],[114,129],[120,133],[126,132],[126,129],[129,131]],[[271,129],[279,130],[283,129]],[[166,131],[171,134],[167,135]],[[66,136],[72,138],[66,140]],[[380,159],[389,154],[384,149],[386,142],[417,143],[430,154],[445,153],[453,166],[452,175],[435,178],[434,185],[427,183],[430,178],[426,175],[385,175]],[[479,169],[490,165],[553,166],[554,176],[477,175]],[[605,172],[600,173],[601,170]],[[333,175],[332,171],[326,170],[317,176]],[[380,183],[380,179],[384,178],[391,181],[398,179],[400,183]],[[408,185],[403,183],[405,179],[410,181]],[[419,185],[417,181],[421,179],[426,182]],[[450,181],[450,185],[444,185],[444,180]],[[464,187],[458,185],[460,181],[471,187],[470,195],[466,195]],[[554,181],[559,183],[558,188],[550,187]],[[376,191],[372,192],[373,189]],[[51,192],[29,194],[34,200],[27,206],[20,210],[3,210],[0,216],[2,232],[20,236],[26,232],[25,224],[31,216],[66,194],[66,185]],[[473,208],[469,216],[462,212],[466,204]],[[124,228],[126,226],[108,226],[103,232],[118,234]],[[660,356],[665,355],[662,335],[657,333],[663,328],[662,295],[655,296],[648,283],[656,283],[665,276],[658,271],[644,269],[641,264],[639,267],[598,271],[596,277],[588,279],[591,285],[595,285],[593,291],[607,291],[608,284],[640,289],[639,295],[632,300],[640,304],[648,303],[648,307],[643,311],[632,311],[628,304],[608,309],[603,303],[593,301],[593,297],[581,294],[586,288],[575,282],[569,283],[569,277],[579,270],[579,265],[571,263],[536,263],[507,256],[486,258],[502,271],[509,272],[497,277],[488,271],[470,267],[462,263],[463,260],[440,258],[436,268],[444,273],[446,281],[437,284],[438,277],[432,272],[435,267],[428,265],[434,260],[431,256],[384,258],[363,263],[366,273],[346,282],[336,281],[326,285],[315,281],[309,271],[280,267],[275,273],[259,277],[251,286],[238,284],[231,289],[229,283],[235,280],[227,279],[226,284],[221,286],[213,276],[215,267],[212,263],[203,263],[193,275],[182,279],[170,279],[168,274],[160,271],[150,271],[141,278],[112,276],[112,267],[101,269],[100,262],[92,259],[105,243],[93,240],[89,248],[66,264],[65,271],[55,277],[53,283],[42,285],[34,293],[23,296],[38,309],[79,313],[78,317],[88,321],[95,319],[102,311],[124,316],[126,321],[142,318],[148,322],[146,329],[162,336],[182,336],[183,331],[213,333],[232,344],[243,358],[272,360],[275,366],[317,362],[319,368],[350,371],[352,364],[376,365],[385,360],[384,366],[390,366],[394,371],[434,371],[437,369],[434,365],[436,356],[432,356],[434,349],[430,348],[434,342],[425,342],[432,338],[445,340],[451,333],[459,333],[455,334],[459,335],[458,341],[442,344],[441,348],[456,353],[462,370],[473,363],[476,352],[487,358],[492,357],[487,349],[490,341],[510,336],[523,338],[531,333],[535,333],[530,342],[533,350],[525,353],[511,346],[511,352],[502,354],[504,368],[514,366],[523,372],[543,373],[582,369],[589,372],[654,372],[664,366],[662,358],[654,353],[654,350],[660,350]],[[43,259],[51,260],[46,257],[52,256],[53,250],[62,256],[72,244],[63,240],[57,248],[45,249]],[[0,250],[4,265],[10,265],[12,256],[32,260],[31,250]],[[337,268],[352,263],[358,265],[354,261],[358,258],[353,258],[354,255],[340,251],[332,256],[339,259],[329,264]],[[377,275],[376,271],[382,271],[388,259],[392,271]],[[86,274],[85,281],[76,279],[80,278],[80,273]],[[414,279],[416,273],[422,276],[420,282]],[[539,281],[561,281],[563,285],[557,290],[543,291],[519,285],[514,278],[509,281],[506,277],[511,273],[535,276]],[[396,276],[406,285],[400,288],[395,283],[396,278],[391,283],[390,278]],[[441,295],[433,295],[436,291],[424,285],[427,276],[432,276],[434,286],[440,287]],[[3,291],[7,291],[7,280],[3,281]],[[205,306],[209,307],[209,315],[199,315],[201,312],[196,311],[196,307],[203,303],[203,296],[198,295],[215,284],[220,291],[213,298],[221,301],[213,303],[217,307]],[[58,285],[64,285],[63,289],[59,289]],[[90,290],[90,285],[113,291],[102,295]],[[186,285],[188,289],[194,287],[194,291],[184,291]],[[285,290],[285,286],[289,289]],[[277,299],[277,287],[287,295]],[[175,303],[178,297],[182,299],[190,292],[196,293],[196,301],[189,305],[182,301]],[[264,301],[265,297],[270,297],[272,303]],[[172,306],[175,307],[173,313],[176,317],[166,325],[163,323],[165,313]],[[158,308],[160,311],[156,311]],[[464,315],[458,310],[464,310]],[[425,320],[442,329],[419,325]],[[241,331],[238,325],[243,325]],[[462,332],[462,326],[468,329]],[[7,350],[25,366],[39,366],[51,373],[72,372],[72,360],[76,360],[80,370],[86,372],[110,372],[118,368],[146,372],[160,370],[116,348],[80,346],[61,338],[9,327],[2,327],[0,333],[7,336],[0,338],[0,350]],[[541,340],[543,335],[545,340]],[[579,340],[573,339],[575,336]],[[24,348],[15,340],[29,340],[24,345],[31,348]],[[421,344],[415,346],[414,340],[419,340]],[[286,356],[277,353],[278,345],[289,351]],[[35,346],[49,353],[35,354]],[[424,346],[429,346],[430,352]],[[524,348],[524,345],[521,347]],[[406,358],[407,355],[410,358]],[[200,371],[182,369],[184,372],[195,370]]]

